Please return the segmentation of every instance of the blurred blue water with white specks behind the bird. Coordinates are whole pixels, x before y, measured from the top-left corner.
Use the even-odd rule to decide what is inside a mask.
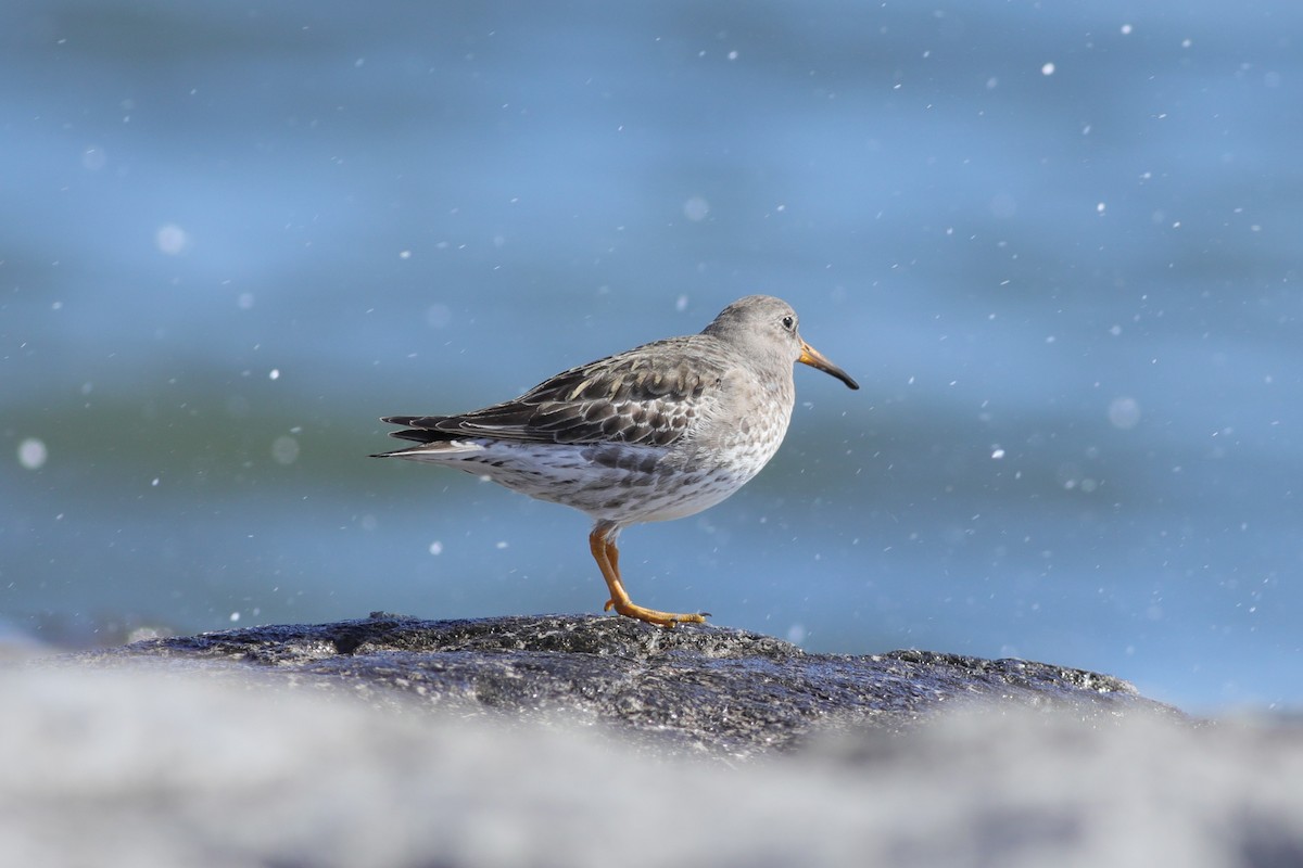
[[[1303,4],[9,0],[0,619],[594,612],[370,452],[764,292],[801,368],[635,600],[1303,705]],[[125,625],[125,626],[124,626]]]

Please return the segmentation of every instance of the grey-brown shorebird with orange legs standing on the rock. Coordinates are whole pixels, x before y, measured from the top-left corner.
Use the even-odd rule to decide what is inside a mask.
[[[625,527],[692,515],[756,476],[787,433],[795,363],[860,385],[807,344],[796,311],[771,295],[724,307],[698,334],[644,344],[551,376],[517,398],[460,415],[382,416],[417,445],[403,458],[487,478],[593,519],[589,550],[603,610],[661,627],[709,613],[637,605],[616,539]]]

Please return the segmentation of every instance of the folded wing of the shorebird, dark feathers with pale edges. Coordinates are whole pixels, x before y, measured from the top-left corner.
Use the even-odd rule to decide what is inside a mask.
[[[525,394],[456,416],[387,416],[392,436],[420,442],[489,437],[525,442],[665,446],[714,403],[726,364],[693,334],[581,364]]]

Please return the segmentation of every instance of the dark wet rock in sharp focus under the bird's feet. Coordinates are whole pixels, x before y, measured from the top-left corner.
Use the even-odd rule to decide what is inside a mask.
[[[791,748],[830,729],[900,730],[956,701],[1178,714],[1123,681],[1078,669],[921,651],[814,655],[741,630],[662,630],[594,616],[418,621],[375,613],[151,639],[79,660],[159,657],[343,688],[380,704],[606,724],[665,751],[732,757]]]

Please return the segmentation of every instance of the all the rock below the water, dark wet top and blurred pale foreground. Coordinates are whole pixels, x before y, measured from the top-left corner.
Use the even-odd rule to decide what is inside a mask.
[[[1040,664],[375,617],[10,662],[0,698],[0,865],[1303,864],[1296,720]]]

